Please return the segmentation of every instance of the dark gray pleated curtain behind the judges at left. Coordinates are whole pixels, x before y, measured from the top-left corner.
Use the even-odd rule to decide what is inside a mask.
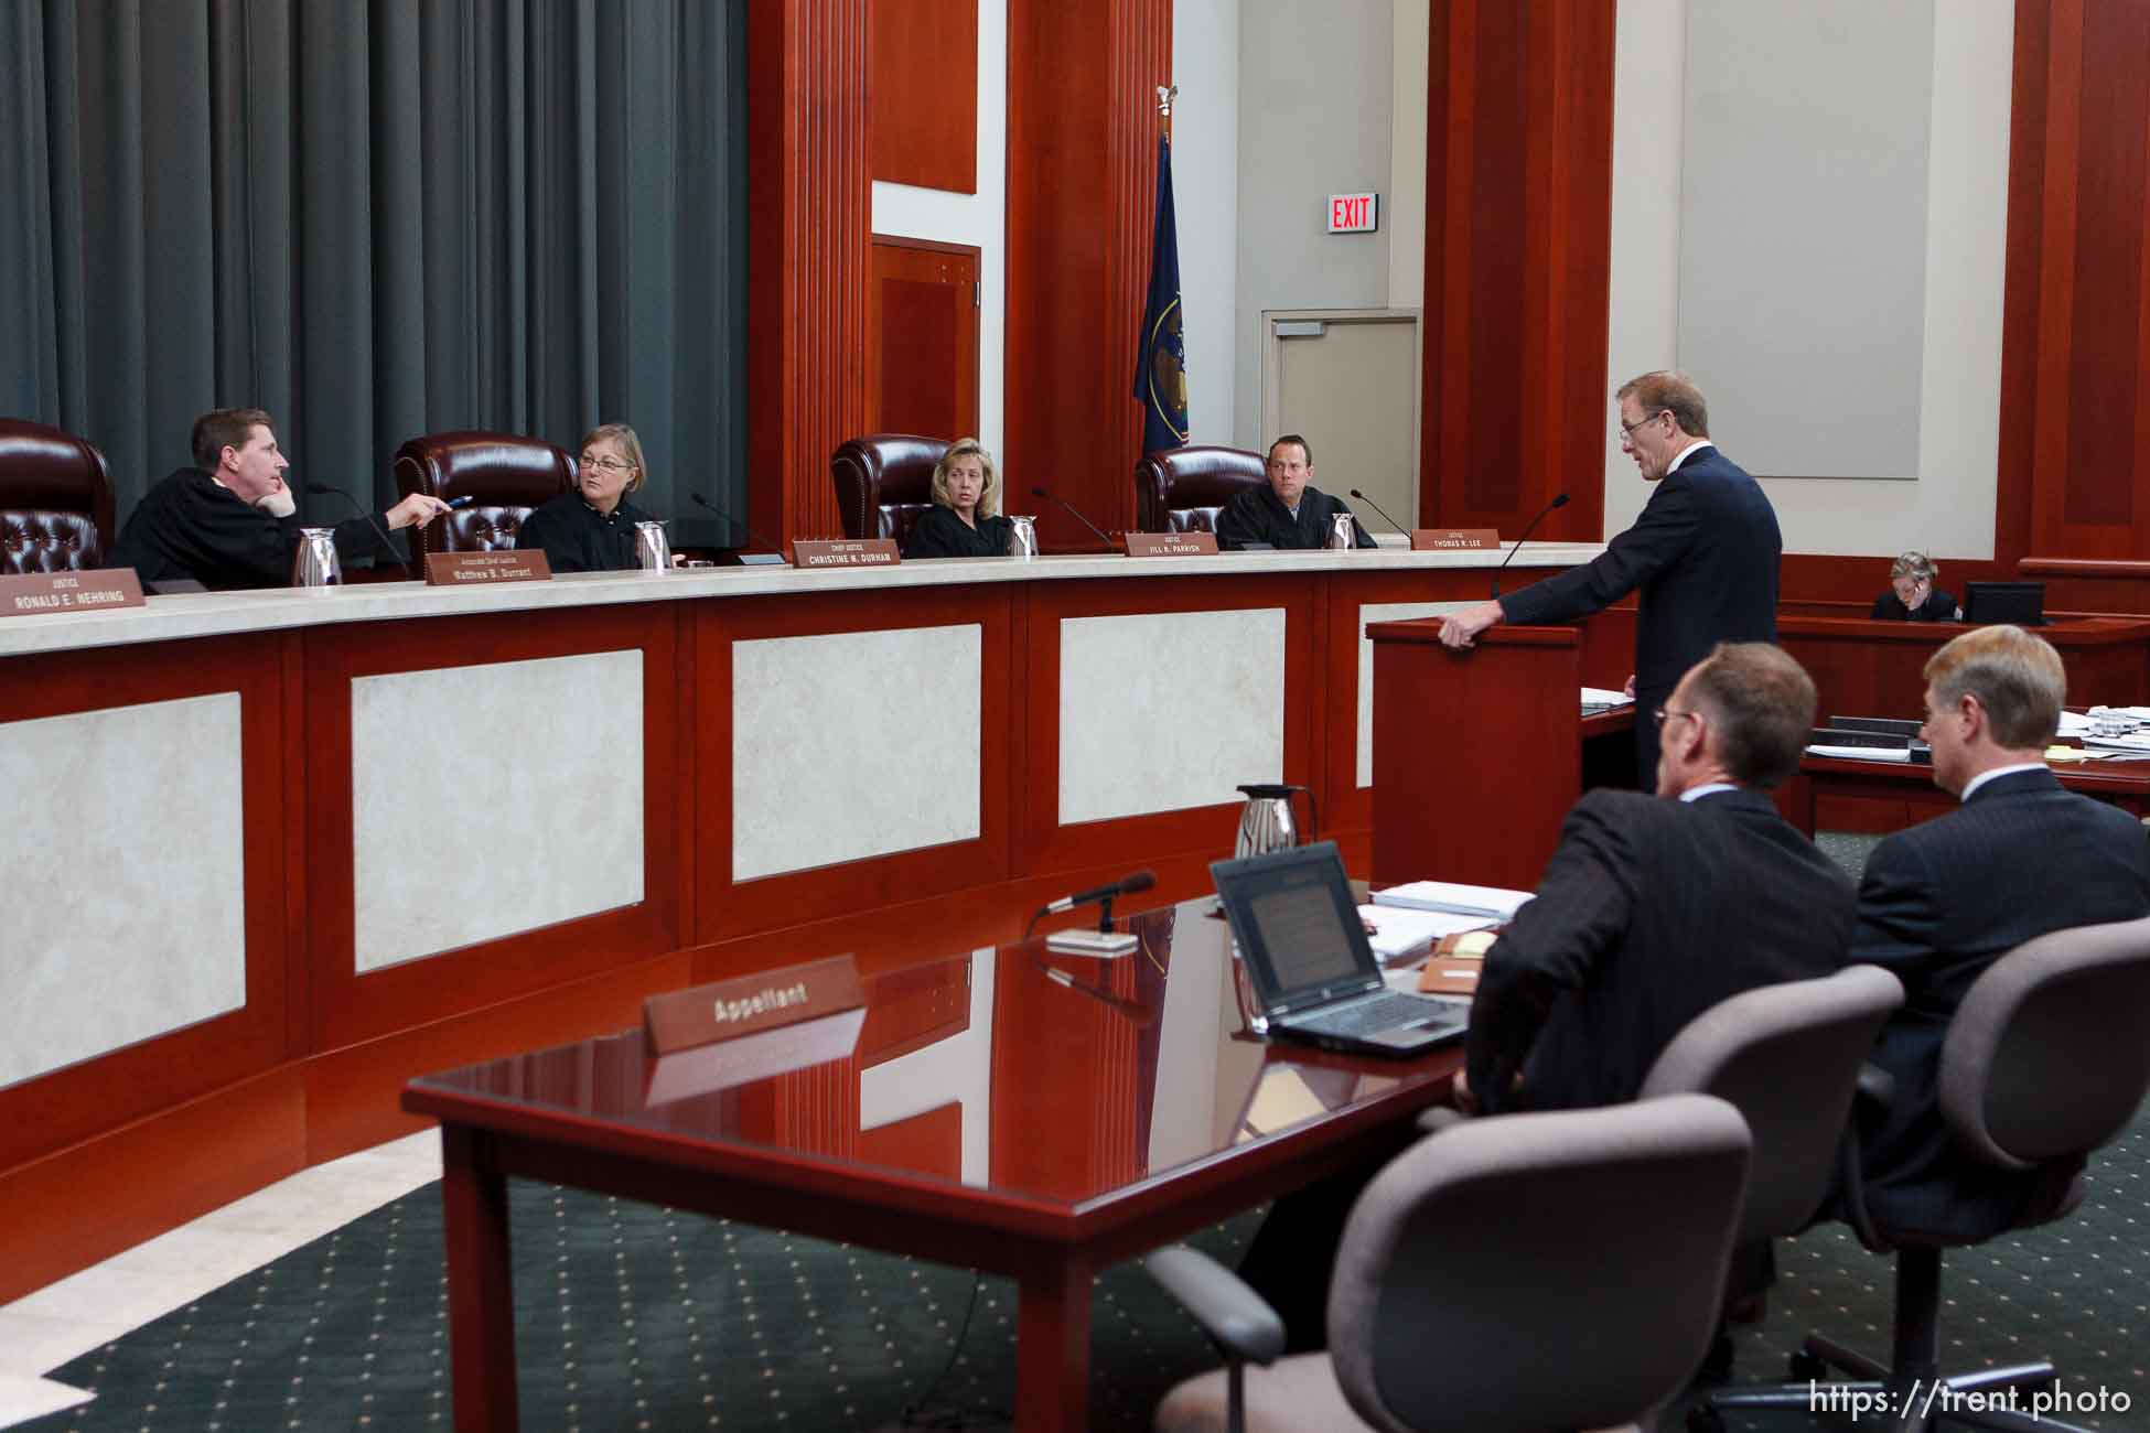
[[[647,507],[744,511],[744,0],[0,0],[0,412],[120,520],[217,406],[376,505],[415,434],[626,421]]]

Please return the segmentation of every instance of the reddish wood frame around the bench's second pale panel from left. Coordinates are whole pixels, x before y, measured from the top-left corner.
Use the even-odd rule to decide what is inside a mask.
[[[686,943],[673,797],[682,788],[675,771],[675,629],[669,604],[632,604],[548,612],[544,623],[522,612],[441,617],[428,623],[428,640],[417,647],[406,623],[316,627],[305,634],[312,1048],[387,1036]],[[639,752],[643,761],[643,900],[359,975],[353,950],[350,681],[621,649],[643,653],[643,726],[591,739]],[[473,761],[490,756],[505,780],[529,780],[540,769],[538,752],[494,754],[484,748],[482,735],[471,733],[469,739]],[[428,840],[454,836],[413,834],[413,859],[424,859]],[[441,898],[454,900],[454,892]]]

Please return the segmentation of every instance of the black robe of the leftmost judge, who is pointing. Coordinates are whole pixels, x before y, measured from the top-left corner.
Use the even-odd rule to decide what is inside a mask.
[[[335,524],[335,550],[344,561],[402,561],[393,544],[374,533],[376,520]],[[297,513],[271,518],[209,473],[181,468],[135,505],[112,546],[112,565],[133,567],[142,582],[191,578],[211,591],[284,587],[301,526]]]

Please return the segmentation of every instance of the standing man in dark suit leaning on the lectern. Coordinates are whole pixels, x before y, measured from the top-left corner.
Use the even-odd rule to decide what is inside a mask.
[[[1643,374],[1615,397],[1621,449],[1658,483],[1634,526],[1593,563],[1456,612],[1440,640],[1468,647],[1503,621],[1576,621],[1640,589],[1632,683],[1636,711],[1651,711],[1718,642],[1776,640],[1782,537],[1761,486],[1709,440],[1709,408],[1686,374]],[[1636,722],[1634,735],[1636,780],[1649,791],[1658,730]]]

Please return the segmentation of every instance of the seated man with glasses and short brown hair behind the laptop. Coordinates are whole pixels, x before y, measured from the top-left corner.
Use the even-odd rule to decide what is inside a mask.
[[[1767,795],[1800,767],[1815,683],[1767,642],[1720,645],[1651,718],[1664,726],[1658,797],[1576,801],[1537,900],[1486,952],[1456,1087],[1464,1109],[1632,1100],[1701,1012],[1843,965],[1851,879]],[[1294,1349],[1322,1345],[1331,1255],[1372,1173],[1281,1199],[1247,1250],[1241,1274],[1284,1315]]]

